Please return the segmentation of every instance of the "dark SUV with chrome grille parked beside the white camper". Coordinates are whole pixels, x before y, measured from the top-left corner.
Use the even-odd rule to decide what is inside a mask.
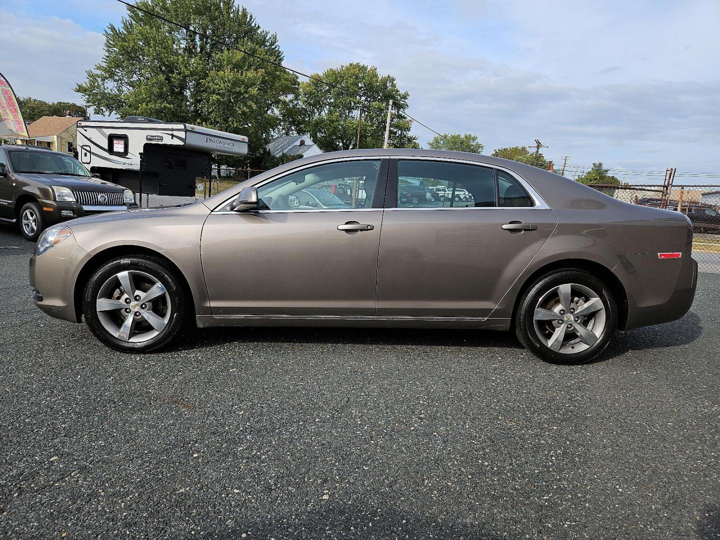
[[[0,221],[18,222],[27,240],[58,222],[137,207],[130,189],[95,178],[73,156],[0,145]]]

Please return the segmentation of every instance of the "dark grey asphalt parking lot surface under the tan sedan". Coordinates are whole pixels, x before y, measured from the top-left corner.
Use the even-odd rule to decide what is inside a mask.
[[[31,245],[0,246],[3,539],[720,538],[716,274],[588,366],[467,330],[135,356],[42,315]]]

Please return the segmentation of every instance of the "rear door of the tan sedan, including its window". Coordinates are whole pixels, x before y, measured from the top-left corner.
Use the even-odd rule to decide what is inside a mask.
[[[397,197],[398,178],[442,184],[453,196],[413,204]],[[455,189],[467,189],[472,198],[454,201]],[[510,171],[431,158],[392,160],[377,314],[485,318],[556,225],[554,212]]]

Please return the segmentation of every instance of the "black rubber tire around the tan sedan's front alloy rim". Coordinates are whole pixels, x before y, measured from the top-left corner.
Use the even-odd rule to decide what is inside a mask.
[[[123,341],[105,328],[98,312],[96,310],[96,302],[101,287],[122,271],[143,272],[153,276],[158,282],[163,284],[169,298],[169,318],[163,330],[159,331],[156,336],[149,338],[147,341],[132,342]],[[164,299],[164,297],[163,297]],[[186,323],[189,317],[186,312],[189,302],[186,299],[186,292],[181,286],[181,280],[173,271],[166,267],[164,261],[150,256],[128,256],[114,259],[103,264],[91,276],[86,284],[83,293],[83,315],[85,322],[102,343],[107,346],[123,352],[151,352],[168,346],[171,341],[176,338],[179,330]]]

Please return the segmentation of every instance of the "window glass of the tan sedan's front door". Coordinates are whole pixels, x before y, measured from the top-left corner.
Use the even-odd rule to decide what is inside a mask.
[[[352,210],[372,207],[380,160],[304,168],[258,187],[264,210]]]

